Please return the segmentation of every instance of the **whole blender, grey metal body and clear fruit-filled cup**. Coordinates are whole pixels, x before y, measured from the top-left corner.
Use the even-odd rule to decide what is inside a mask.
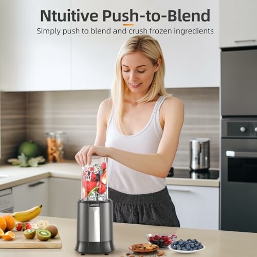
[[[114,249],[113,202],[108,199],[106,159],[92,155],[91,164],[82,167],[75,250],[85,254]]]

